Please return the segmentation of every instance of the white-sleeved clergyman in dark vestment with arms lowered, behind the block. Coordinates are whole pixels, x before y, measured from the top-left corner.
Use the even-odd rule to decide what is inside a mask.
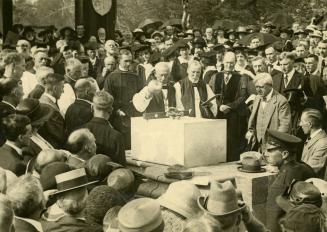
[[[202,66],[199,61],[192,60],[188,64],[187,78],[177,82],[174,87],[176,90],[176,107],[179,110],[190,111],[192,117],[209,117],[201,108],[200,104],[214,96],[208,84],[201,79]],[[211,101],[210,114],[217,115],[216,101]],[[212,118],[213,118],[212,117]]]

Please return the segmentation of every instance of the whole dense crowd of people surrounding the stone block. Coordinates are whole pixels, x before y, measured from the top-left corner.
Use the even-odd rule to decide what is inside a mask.
[[[324,231],[327,28],[314,22],[110,39],[14,25],[0,53],[0,231]],[[257,151],[277,170],[265,225],[230,181],[137,195],[131,117],[172,109],[225,119],[228,162]]]

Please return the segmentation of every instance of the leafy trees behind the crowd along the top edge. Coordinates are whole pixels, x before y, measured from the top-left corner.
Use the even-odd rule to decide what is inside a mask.
[[[89,0],[91,1],[91,0]],[[182,17],[181,0],[117,0],[117,24],[122,30],[135,29],[144,18],[163,21]],[[327,9],[326,0],[189,0],[191,24],[204,28],[218,19],[239,24],[267,21],[284,12],[308,23],[313,14]],[[14,0],[14,23],[24,25],[74,26],[74,0]]]

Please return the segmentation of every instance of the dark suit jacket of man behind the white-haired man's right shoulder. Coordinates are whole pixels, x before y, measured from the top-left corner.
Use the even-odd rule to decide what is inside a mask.
[[[287,89],[302,89],[306,93],[306,95],[312,95],[309,79],[297,71],[294,72],[294,75],[289,80],[287,86],[285,86],[284,84],[284,73],[282,72],[278,72],[276,75],[273,75],[272,79],[273,88],[284,96],[286,96],[284,91]]]

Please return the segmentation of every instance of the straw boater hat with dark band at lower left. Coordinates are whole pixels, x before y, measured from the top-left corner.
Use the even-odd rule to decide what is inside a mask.
[[[68,192],[70,190],[86,187],[99,181],[88,182],[84,168],[75,169],[55,176],[57,191],[51,195]]]

